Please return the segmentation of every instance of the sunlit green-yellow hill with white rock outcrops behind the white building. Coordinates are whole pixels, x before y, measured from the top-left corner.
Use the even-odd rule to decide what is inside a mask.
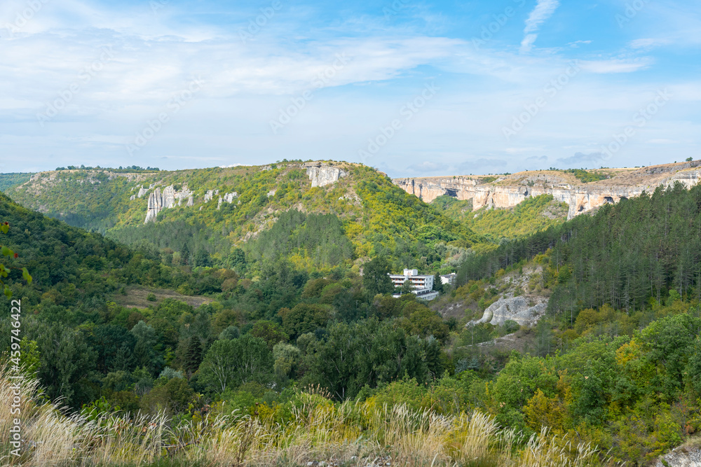
[[[430,272],[444,263],[446,246],[467,249],[486,242],[462,223],[407,195],[374,169],[346,163],[339,167],[347,170],[348,176],[314,188],[305,169],[289,162],[151,174],[60,170],[41,174],[10,194],[21,204],[71,225],[97,230],[127,244],[150,244],[166,263],[175,265],[234,267],[240,263],[242,250],[257,259],[270,258],[271,249],[259,246],[256,239],[291,209],[326,216],[323,222],[335,226],[333,235],[345,237],[342,251],[332,254],[334,264],[343,267],[351,267],[358,258],[383,255],[392,260],[395,269],[419,267]],[[161,190],[187,187],[193,192],[194,205],[164,209],[154,222],[144,225],[149,195],[135,195],[142,187],[151,193],[158,186]],[[207,191],[214,190],[219,190],[219,195],[236,195],[232,202],[217,202],[219,195],[205,200]],[[275,235],[281,241],[283,237],[299,240],[291,229],[314,223],[317,218],[298,219],[281,224],[266,239]],[[282,225],[287,229],[284,232]],[[308,226],[305,235],[313,229]],[[436,248],[437,244],[442,246]],[[331,257],[320,258],[313,251],[317,247],[297,246],[294,251],[286,250],[286,256],[308,270],[328,267]]]

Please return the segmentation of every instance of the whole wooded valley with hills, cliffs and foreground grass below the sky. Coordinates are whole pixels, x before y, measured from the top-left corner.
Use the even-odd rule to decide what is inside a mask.
[[[32,436],[48,436],[42,417],[77,433],[65,463],[113,449],[163,460],[136,432],[120,438],[124,424],[161,424],[154,442],[192,443],[175,455],[202,465],[236,462],[251,433],[280,448],[251,447],[249,465],[294,453],[452,465],[475,449],[487,465],[531,465],[533,449],[571,465],[651,463],[701,431],[698,167],[409,182],[283,161],[0,176],[0,238],[18,253],[2,280],[25,309],[22,363],[46,394],[25,393]],[[407,268],[435,300],[398,293],[411,286],[389,274]],[[0,374],[0,394],[9,384]],[[72,425],[59,401],[95,424]],[[306,414],[324,421],[311,428]],[[456,427],[441,439],[494,438],[377,448],[419,416]],[[213,438],[193,440],[200,426],[230,437],[219,460]]]

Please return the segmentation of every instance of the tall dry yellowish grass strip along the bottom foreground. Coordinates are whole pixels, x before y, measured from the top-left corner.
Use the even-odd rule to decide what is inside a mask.
[[[0,368],[0,432],[8,433],[12,390]],[[5,455],[4,466],[588,466],[599,463],[588,445],[572,446],[501,430],[480,412],[459,416],[414,412],[404,405],[332,403],[302,393],[290,421],[273,417],[218,416],[172,426],[164,416],[67,416],[22,388],[23,454]],[[92,418],[92,417],[91,417]],[[9,452],[7,438],[3,452]],[[6,449],[7,448],[7,449]]]

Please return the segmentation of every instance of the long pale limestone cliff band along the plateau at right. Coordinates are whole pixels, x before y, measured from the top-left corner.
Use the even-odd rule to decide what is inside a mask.
[[[604,169],[611,172],[607,180],[582,183],[564,172],[541,170],[506,176],[451,176],[394,179],[404,191],[426,202],[448,195],[458,200],[472,200],[472,209],[514,207],[527,197],[552,195],[569,204],[568,218],[591,211],[606,203],[615,203],[658,186],[677,181],[690,187],[701,181],[701,161],[666,164],[641,169]]]

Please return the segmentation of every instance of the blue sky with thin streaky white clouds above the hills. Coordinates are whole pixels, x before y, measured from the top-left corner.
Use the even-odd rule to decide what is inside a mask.
[[[697,0],[4,0],[0,172],[701,158]]]

